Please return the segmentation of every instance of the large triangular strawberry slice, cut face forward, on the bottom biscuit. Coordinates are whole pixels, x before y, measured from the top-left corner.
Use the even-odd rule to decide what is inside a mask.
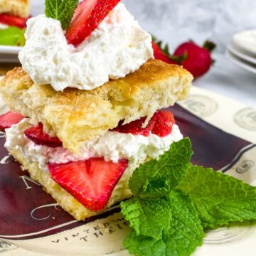
[[[99,211],[107,206],[114,187],[128,161],[117,163],[92,158],[68,164],[48,164],[50,176],[88,210]]]

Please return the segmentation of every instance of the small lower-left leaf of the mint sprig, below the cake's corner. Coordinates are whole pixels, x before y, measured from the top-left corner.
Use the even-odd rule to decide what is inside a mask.
[[[121,207],[124,218],[137,235],[159,239],[163,230],[169,230],[171,208],[162,198],[131,198],[122,202]]]

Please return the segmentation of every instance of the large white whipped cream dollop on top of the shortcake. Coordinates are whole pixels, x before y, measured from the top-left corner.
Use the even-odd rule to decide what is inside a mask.
[[[93,90],[124,78],[153,57],[151,36],[124,4],[118,4],[78,48],[68,45],[60,21],[44,15],[27,22],[26,46],[18,55],[38,85]]]

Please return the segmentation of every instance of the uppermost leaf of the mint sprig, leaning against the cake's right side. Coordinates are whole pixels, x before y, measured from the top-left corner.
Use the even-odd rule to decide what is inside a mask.
[[[171,144],[159,160],[151,160],[139,166],[129,181],[129,187],[135,195],[146,181],[152,178],[168,178],[171,187],[175,187],[186,174],[186,168],[192,155],[191,142],[188,138]]]

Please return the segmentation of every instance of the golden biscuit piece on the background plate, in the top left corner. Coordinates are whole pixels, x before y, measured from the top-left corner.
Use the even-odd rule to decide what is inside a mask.
[[[29,0],[0,0],[0,14],[11,14],[21,18],[28,18],[29,12]]]

